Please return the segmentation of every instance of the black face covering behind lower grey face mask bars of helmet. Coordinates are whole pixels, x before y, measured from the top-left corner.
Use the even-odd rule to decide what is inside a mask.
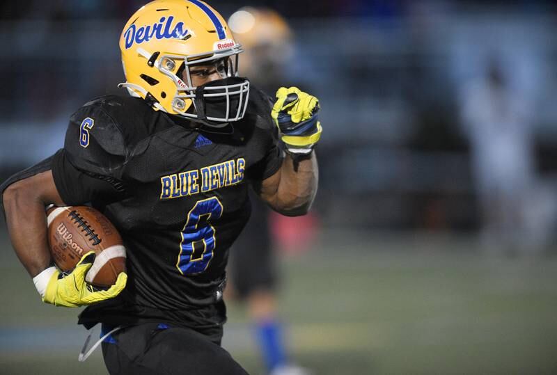
[[[212,127],[223,127],[244,117],[249,99],[249,81],[227,77],[210,81],[195,90],[196,119]]]

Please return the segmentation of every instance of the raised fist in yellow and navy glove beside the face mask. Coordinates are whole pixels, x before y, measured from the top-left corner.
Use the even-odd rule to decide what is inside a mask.
[[[281,131],[286,150],[292,154],[309,154],[321,137],[317,120],[319,100],[299,88],[281,87],[276,91],[271,117]]]

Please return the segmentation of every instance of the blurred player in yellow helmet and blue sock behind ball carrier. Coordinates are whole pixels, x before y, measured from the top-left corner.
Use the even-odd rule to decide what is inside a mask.
[[[228,19],[228,25],[245,51],[242,76],[267,95],[288,82],[292,63],[292,30],[276,11],[245,7]],[[276,242],[269,228],[271,210],[250,191],[251,218],[230,253],[230,284],[226,298],[246,303],[256,342],[272,375],[303,375],[306,370],[291,363],[284,328],[278,318],[276,291]],[[285,218],[292,220],[292,218]]]

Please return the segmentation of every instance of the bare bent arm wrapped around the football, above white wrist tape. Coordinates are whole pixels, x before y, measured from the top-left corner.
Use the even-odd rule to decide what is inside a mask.
[[[11,184],[3,192],[2,200],[15,253],[31,277],[35,277],[51,262],[45,206],[50,203],[65,206],[54,185],[52,171]]]

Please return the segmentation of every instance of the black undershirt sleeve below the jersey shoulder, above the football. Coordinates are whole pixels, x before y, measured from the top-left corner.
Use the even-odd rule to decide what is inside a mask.
[[[66,205],[83,205],[87,202],[106,204],[126,196],[125,186],[120,180],[76,168],[68,160],[65,150],[54,155],[52,176]]]

